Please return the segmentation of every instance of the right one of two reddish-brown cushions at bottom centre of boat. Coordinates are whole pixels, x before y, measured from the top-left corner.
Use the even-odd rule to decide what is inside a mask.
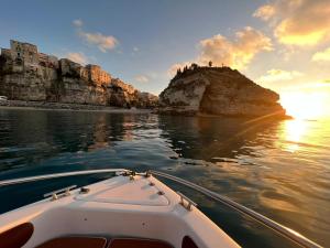
[[[108,248],[173,248],[173,246],[161,240],[139,238],[113,238]]]

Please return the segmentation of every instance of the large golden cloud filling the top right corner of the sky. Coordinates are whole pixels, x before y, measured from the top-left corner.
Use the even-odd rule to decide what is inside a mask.
[[[283,44],[316,45],[330,36],[329,0],[273,0],[253,15],[267,21]]]

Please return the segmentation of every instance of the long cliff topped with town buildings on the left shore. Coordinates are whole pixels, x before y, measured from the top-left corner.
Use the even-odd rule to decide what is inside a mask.
[[[37,52],[32,44],[11,41],[1,50],[0,95],[12,100],[58,101],[117,107],[154,107],[157,97],[141,93],[102,71]]]

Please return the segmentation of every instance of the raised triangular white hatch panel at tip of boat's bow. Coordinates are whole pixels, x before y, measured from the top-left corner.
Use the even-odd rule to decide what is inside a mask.
[[[157,185],[142,176],[136,176],[134,180],[122,176],[116,181],[105,181],[91,186],[88,194],[81,194],[76,200],[147,206],[169,205],[168,198],[157,188]]]

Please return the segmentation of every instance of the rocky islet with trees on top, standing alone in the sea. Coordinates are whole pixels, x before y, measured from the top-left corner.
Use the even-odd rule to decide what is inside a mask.
[[[262,117],[285,116],[278,94],[229,67],[197,67],[178,73],[160,95],[160,112]]]

